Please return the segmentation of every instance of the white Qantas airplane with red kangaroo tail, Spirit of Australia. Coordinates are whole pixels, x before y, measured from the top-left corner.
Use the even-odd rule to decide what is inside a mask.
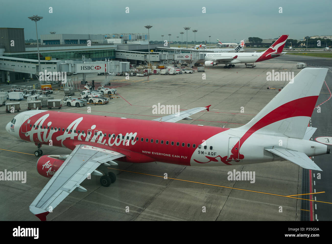
[[[238,53],[235,56],[230,53],[205,53],[205,66],[212,67],[218,64],[223,64],[224,68],[235,67],[237,63],[254,63],[261,62],[271,58],[285,55],[286,52],[282,52],[287,41],[288,35],[282,35],[277,41],[275,41],[269,49],[264,52],[243,52]],[[228,65],[228,66],[227,66]]]

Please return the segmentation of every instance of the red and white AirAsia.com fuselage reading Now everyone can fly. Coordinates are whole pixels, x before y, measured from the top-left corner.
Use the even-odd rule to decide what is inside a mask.
[[[241,129],[39,112],[33,116],[24,115],[28,112],[23,112],[21,121],[16,122],[22,126],[16,126],[11,134],[36,144],[71,150],[78,144],[115,150],[126,155],[119,161],[131,163],[158,161],[188,166],[225,166],[271,162],[281,158],[264,151],[264,147],[267,144],[278,146],[281,139],[284,146],[303,151],[308,156],[326,153],[326,148],[318,142],[248,134]],[[311,149],[312,145],[315,149]]]

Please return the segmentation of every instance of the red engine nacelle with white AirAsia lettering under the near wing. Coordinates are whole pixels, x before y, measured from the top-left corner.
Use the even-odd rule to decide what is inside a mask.
[[[43,155],[37,161],[37,172],[43,177],[51,178],[67,157],[68,155]]]

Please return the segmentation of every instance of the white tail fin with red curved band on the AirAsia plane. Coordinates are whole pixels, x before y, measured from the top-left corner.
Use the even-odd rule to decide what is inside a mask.
[[[237,128],[246,132],[303,139],[316,106],[328,69],[305,68],[290,80],[290,72],[280,72],[290,82],[250,122]]]

